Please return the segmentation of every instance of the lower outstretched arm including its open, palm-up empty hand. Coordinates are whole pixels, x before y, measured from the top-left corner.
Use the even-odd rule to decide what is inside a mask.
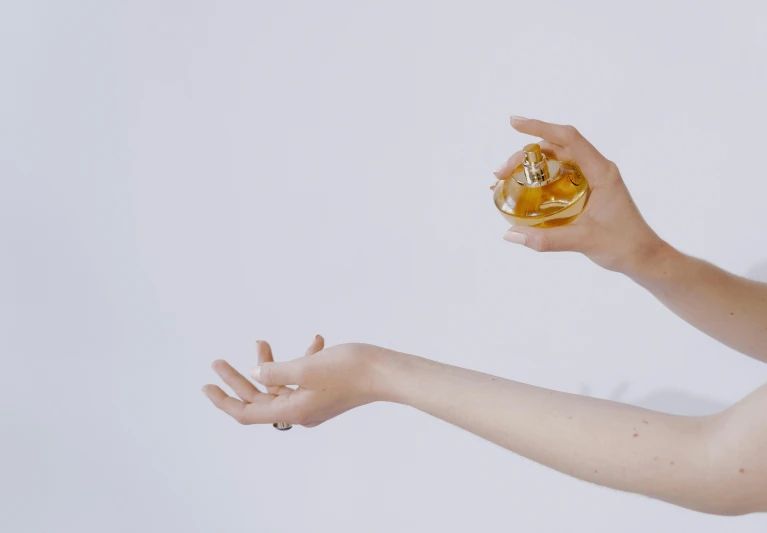
[[[683,417],[565,394],[365,344],[285,363],[263,356],[251,376],[214,369],[240,396],[203,392],[242,424],[316,426],[374,401],[405,404],[565,474],[716,514],[767,511],[767,385],[711,417]],[[268,346],[268,345],[267,345]],[[292,390],[283,385],[298,385]]]

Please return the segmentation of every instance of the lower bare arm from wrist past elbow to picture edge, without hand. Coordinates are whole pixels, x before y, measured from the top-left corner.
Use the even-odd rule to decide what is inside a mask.
[[[724,413],[675,416],[416,357],[393,401],[571,476],[714,514],[767,511],[767,385]]]

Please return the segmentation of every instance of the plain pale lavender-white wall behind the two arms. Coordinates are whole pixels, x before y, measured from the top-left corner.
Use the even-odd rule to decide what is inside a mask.
[[[0,6],[0,530],[764,531],[414,410],[200,394],[316,333],[687,414],[767,380],[629,280],[505,243],[492,170],[575,124],[654,228],[767,280],[765,4]]]

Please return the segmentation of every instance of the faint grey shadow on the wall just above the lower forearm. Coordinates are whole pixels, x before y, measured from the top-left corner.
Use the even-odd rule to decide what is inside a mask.
[[[710,415],[728,407],[725,403],[718,400],[676,389],[660,389],[636,400],[628,401],[625,396],[629,387],[629,383],[622,383],[613,390],[608,399],[614,402],[644,407],[653,411],[683,416]],[[588,386],[581,385],[581,394],[591,396]]]

